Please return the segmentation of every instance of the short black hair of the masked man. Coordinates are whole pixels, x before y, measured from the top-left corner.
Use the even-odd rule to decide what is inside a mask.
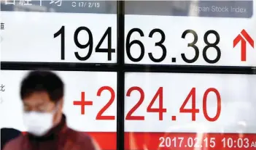
[[[63,98],[64,84],[61,78],[53,72],[36,70],[28,73],[21,82],[20,97],[24,99],[34,92],[45,91],[50,100],[57,102]]]

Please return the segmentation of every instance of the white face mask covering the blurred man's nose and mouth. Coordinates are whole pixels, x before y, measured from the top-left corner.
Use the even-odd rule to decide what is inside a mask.
[[[44,136],[53,127],[53,112],[24,112],[23,122],[26,125],[28,133],[34,136]]]

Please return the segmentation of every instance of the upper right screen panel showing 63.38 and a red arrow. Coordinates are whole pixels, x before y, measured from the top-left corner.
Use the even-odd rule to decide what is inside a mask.
[[[125,63],[255,66],[254,1],[125,1]]]

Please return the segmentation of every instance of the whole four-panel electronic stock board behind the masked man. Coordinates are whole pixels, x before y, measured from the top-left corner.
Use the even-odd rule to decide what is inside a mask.
[[[0,127],[26,132],[20,81],[42,65],[103,150],[256,149],[256,75],[234,74],[256,67],[256,1],[0,3]]]

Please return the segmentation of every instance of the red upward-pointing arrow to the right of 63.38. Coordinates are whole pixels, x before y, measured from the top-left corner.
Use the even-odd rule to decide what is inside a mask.
[[[241,35],[243,35],[244,38]],[[241,41],[241,61],[245,62],[245,61],[247,61],[247,42],[252,46],[252,48],[255,48],[255,45],[254,45],[255,42],[249,36],[247,31],[242,30],[241,35],[239,34],[233,40],[233,47],[235,47],[239,43],[239,41]],[[247,41],[245,41],[245,40],[247,40]]]

